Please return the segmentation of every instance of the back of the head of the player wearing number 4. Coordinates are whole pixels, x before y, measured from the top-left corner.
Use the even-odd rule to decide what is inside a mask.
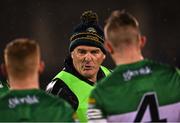
[[[105,46],[111,56],[116,53],[127,57],[129,53],[141,56],[141,48],[145,44],[145,37],[141,36],[137,19],[126,11],[113,11],[106,20],[104,27]]]

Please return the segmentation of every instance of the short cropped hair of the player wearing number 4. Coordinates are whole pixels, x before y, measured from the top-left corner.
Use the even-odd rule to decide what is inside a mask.
[[[107,37],[114,46],[118,46],[121,43],[131,43],[133,40],[136,40],[137,36],[140,34],[137,19],[124,10],[112,12],[106,20],[105,27]],[[134,30],[133,33],[128,30],[130,28]],[[123,35],[119,34],[120,30],[123,31]]]

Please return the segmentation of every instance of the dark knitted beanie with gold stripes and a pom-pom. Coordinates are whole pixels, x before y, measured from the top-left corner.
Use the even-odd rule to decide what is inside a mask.
[[[72,52],[79,45],[94,46],[106,54],[104,44],[104,33],[98,24],[98,16],[92,11],[85,11],[70,38],[69,51]]]

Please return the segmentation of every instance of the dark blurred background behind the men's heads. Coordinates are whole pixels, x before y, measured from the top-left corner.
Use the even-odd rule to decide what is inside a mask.
[[[144,56],[180,67],[179,5],[179,0],[1,0],[0,62],[9,41],[19,37],[37,40],[46,63],[40,77],[44,89],[62,69],[69,37],[83,11],[97,12],[103,27],[113,10],[125,9],[137,17],[142,34],[147,36]],[[115,67],[109,55],[104,65]]]

